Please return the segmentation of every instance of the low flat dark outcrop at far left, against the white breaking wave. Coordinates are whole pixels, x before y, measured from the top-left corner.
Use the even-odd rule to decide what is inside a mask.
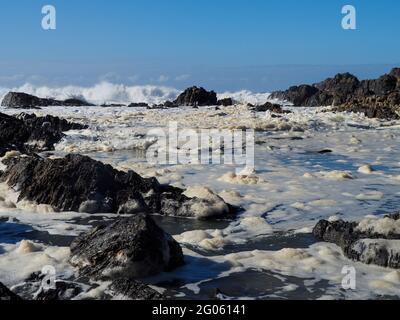
[[[9,92],[3,98],[1,102],[3,107],[8,108],[21,108],[21,109],[32,109],[37,107],[50,107],[50,106],[93,106],[92,104],[80,100],[80,99],[67,99],[64,101],[38,98],[36,96],[22,93],[22,92]]]

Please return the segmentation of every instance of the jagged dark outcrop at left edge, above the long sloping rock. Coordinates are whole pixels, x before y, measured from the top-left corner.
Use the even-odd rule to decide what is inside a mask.
[[[25,113],[13,117],[0,113],[0,156],[12,150],[21,153],[53,150],[54,144],[64,137],[63,132],[85,128],[58,117]]]

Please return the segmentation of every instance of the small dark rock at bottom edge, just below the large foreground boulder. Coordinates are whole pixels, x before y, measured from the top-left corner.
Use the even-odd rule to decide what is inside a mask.
[[[162,294],[149,286],[128,278],[114,280],[109,288],[113,292],[114,299],[120,300],[163,300]]]

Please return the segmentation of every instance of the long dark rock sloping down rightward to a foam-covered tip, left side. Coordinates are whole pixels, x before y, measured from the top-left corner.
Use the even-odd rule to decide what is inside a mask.
[[[122,172],[89,157],[62,159],[17,157],[7,163],[0,181],[20,192],[19,201],[47,204],[60,211],[136,214],[160,213],[198,219],[233,215],[234,208],[215,207],[214,199],[186,197],[184,190]]]

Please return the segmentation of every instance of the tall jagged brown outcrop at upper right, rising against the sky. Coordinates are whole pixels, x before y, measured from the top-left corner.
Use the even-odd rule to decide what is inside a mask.
[[[371,118],[398,119],[400,69],[374,80],[358,80],[350,73],[338,74],[313,85],[291,87],[273,92],[271,98],[285,100],[295,106],[336,106],[336,111],[364,113]],[[379,110],[379,109],[383,110]]]

